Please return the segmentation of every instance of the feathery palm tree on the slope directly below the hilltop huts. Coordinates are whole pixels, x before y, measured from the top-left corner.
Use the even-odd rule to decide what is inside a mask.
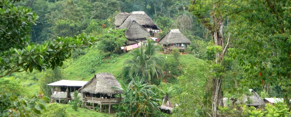
[[[145,76],[148,82],[153,77],[163,76],[164,58],[155,56],[160,49],[160,46],[156,46],[152,40],[148,40],[146,46],[141,45],[140,48],[130,52],[134,57],[132,60],[125,60],[122,72],[129,71],[131,77],[134,75]]]

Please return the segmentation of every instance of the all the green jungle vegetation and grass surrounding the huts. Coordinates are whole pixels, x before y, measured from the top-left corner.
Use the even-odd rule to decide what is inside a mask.
[[[291,97],[290,0],[1,0],[0,116],[288,117]],[[147,45],[125,53],[120,12],[145,11],[162,30],[179,29],[184,53]],[[124,93],[116,113],[48,104],[51,87],[109,72]],[[113,87],[116,88],[116,87]],[[242,101],[253,89],[283,98],[264,109]],[[174,109],[162,113],[162,99]],[[248,102],[252,102],[248,100]],[[65,103],[65,102],[61,102]],[[97,112],[96,112],[97,111]]]

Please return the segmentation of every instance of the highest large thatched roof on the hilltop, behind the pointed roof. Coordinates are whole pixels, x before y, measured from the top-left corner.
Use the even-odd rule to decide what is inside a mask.
[[[126,28],[129,24],[129,21],[135,20],[143,27],[149,27],[152,29],[159,29],[155,22],[146,14],[144,11],[134,11],[132,12],[127,19],[122,23],[119,28]]]

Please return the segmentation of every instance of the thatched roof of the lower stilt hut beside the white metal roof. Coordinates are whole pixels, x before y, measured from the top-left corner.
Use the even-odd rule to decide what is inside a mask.
[[[120,83],[112,74],[99,73],[95,74],[90,81],[81,87],[79,92],[89,92],[93,94],[121,94],[123,92],[122,90],[113,89],[113,86],[121,88]]]

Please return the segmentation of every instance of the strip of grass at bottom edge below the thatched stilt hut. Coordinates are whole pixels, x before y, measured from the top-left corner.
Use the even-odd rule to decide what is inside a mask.
[[[71,106],[67,106],[66,112],[72,117],[114,117],[114,114],[99,113],[84,108],[78,108],[78,111],[75,111]]]

